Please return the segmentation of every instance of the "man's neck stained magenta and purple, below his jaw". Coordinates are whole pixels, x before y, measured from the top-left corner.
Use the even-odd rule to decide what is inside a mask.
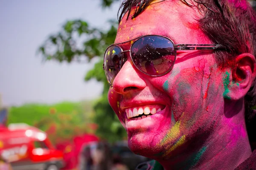
[[[237,103],[232,105],[237,106]],[[156,160],[165,170],[235,169],[250,156],[251,148],[244,121],[244,104],[242,102],[240,110],[232,105],[231,102],[228,107],[225,105],[235,109],[226,109],[208,136],[197,137],[178,156]]]

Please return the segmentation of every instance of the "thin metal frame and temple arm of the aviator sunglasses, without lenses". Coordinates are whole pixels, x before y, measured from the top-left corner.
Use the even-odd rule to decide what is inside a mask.
[[[151,74],[147,74],[145,72],[143,72],[140,68],[137,67],[137,65],[134,63],[134,60],[133,58],[131,57],[131,48],[132,46],[135,44],[135,42],[137,42],[138,40],[140,40],[141,38],[143,37],[151,37],[151,36],[154,36],[154,37],[163,37],[163,38],[166,38],[167,40],[171,41],[172,44],[173,44],[173,47],[174,47],[174,61],[173,61],[173,64],[172,64],[172,67],[169,68],[168,71],[164,72],[163,74],[159,74],[159,75],[151,75]],[[136,40],[132,43],[131,47],[129,50],[123,50],[119,45],[120,44],[125,44],[127,42],[131,42],[133,40]],[[143,36],[140,36],[140,37],[137,37],[137,38],[134,38],[132,40],[128,40],[128,41],[125,41],[125,42],[120,42],[120,43],[115,43],[115,44],[111,44],[110,46],[108,46],[108,48],[112,47],[112,46],[116,46],[118,48],[120,48],[121,50],[121,54],[122,54],[122,61],[121,61],[121,67],[120,69],[122,68],[122,66],[124,65],[127,57],[124,57],[124,53],[125,52],[129,52],[130,53],[130,57],[131,57],[131,60],[132,62],[134,63],[135,67],[141,71],[142,73],[148,75],[148,76],[151,76],[151,77],[160,77],[160,76],[163,76],[165,74],[167,74],[169,71],[172,70],[174,64],[175,64],[175,60],[176,60],[176,55],[177,55],[177,51],[180,51],[180,50],[216,50],[216,49],[225,49],[223,45],[220,45],[220,44],[175,44],[171,39],[169,39],[168,37],[165,37],[165,36],[162,36],[162,35],[143,35]],[[105,54],[106,52],[108,51],[108,48],[106,49],[105,53],[104,53],[104,59],[103,61],[105,62]],[[103,62],[103,70],[105,70],[105,64]],[[107,76],[107,73],[106,73],[106,70],[105,70],[105,74],[106,74],[106,77],[108,79],[108,76]],[[109,81],[108,83],[110,85],[112,85]]]

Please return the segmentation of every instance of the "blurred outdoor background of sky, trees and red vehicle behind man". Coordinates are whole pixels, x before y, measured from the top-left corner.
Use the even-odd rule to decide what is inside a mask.
[[[0,0],[1,170],[127,170],[147,161],[128,149],[108,105],[103,53],[119,5]]]

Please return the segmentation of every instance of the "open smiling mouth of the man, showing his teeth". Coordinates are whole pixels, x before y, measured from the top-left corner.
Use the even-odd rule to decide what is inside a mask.
[[[164,108],[164,105],[145,105],[140,107],[127,108],[125,109],[125,112],[128,119],[137,120],[152,116],[155,113],[162,111]]]

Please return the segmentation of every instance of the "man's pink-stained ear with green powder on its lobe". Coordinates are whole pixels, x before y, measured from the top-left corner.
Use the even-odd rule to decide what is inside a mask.
[[[256,77],[256,59],[252,54],[244,53],[236,57],[235,66],[232,69],[232,83],[229,85],[231,100],[243,98]]]

